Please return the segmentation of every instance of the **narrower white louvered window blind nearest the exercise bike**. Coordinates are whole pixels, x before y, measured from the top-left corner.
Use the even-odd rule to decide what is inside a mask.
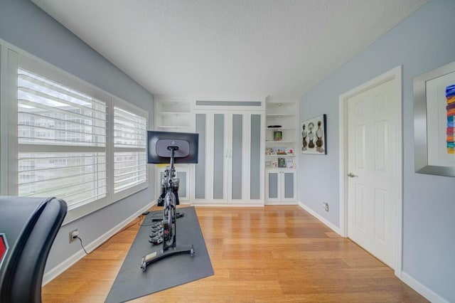
[[[147,181],[143,115],[114,106],[114,193]]]

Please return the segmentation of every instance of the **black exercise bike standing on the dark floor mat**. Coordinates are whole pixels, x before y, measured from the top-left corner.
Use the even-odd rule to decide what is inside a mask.
[[[178,254],[190,254],[191,257],[194,256],[195,251],[193,245],[177,245],[177,211],[176,211],[176,195],[173,193],[175,191],[175,185],[173,180],[175,180],[176,169],[174,167],[175,154],[176,151],[179,151],[179,145],[183,144],[183,150],[179,156],[188,156],[189,150],[188,142],[183,140],[172,140],[172,139],[163,139],[157,140],[156,142],[156,154],[157,156],[168,156],[170,153],[170,163],[164,171],[164,176],[161,181],[161,186],[164,186],[165,196],[163,199],[163,248],[156,252],[151,252],[148,255],[144,255],[141,260],[141,270],[146,271],[147,266],[153,262],[164,259],[165,257],[170,257],[171,255]],[[188,147],[187,147],[188,145]],[[167,151],[164,151],[166,148]],[[150,153],[149,153],[150,154]],[[150,161],[149,161],[150,162]]]

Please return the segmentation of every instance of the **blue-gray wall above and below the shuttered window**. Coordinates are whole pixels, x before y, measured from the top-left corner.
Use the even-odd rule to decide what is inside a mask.
[[[0,1],[0,38],[148,110],[149,126],[153,125],[153,96],[31,1]],[[68,243],[70,230],[78,228],[84,243],[91,243],[153,201],[153,176],[149,174],[149,177],[149,188],[144,191],[63,226],[50,251],[46,270],[59,265],[81,249],[78,242]]]

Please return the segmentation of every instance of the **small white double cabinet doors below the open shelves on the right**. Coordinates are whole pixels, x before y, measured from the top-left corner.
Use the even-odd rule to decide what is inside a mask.
[[[270,169],[266,174],[266,201],[269,204],[296,201],[295,171]]]

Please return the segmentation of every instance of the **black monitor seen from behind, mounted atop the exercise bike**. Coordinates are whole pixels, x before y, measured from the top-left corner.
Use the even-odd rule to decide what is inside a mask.
[[[147,131],[147,163],[168,164],[171,161],[168,147],[178,147],[174,163],[198,163],[199,134]]]

